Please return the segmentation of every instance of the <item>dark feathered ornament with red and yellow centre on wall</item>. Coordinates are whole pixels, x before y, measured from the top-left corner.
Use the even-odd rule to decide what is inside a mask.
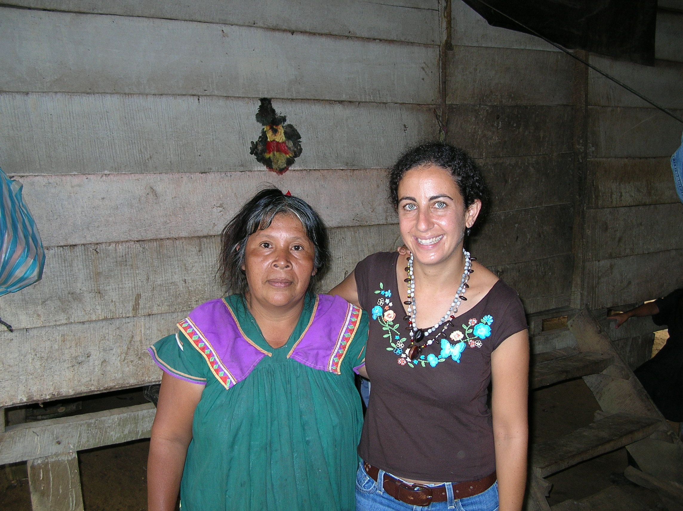
[[[290,169],[294,158],[301,156],[301,135],[292,124],[284,124],[287,118],[277,115],[269,98],[261,98],[256,120],[263,124],[258,140],[251,142],[251,154],[268,170],[281,176]]]

